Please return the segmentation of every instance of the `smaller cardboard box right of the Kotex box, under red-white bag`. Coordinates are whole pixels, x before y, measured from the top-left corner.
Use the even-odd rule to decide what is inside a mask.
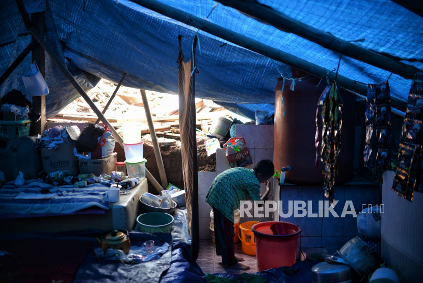
[[[77,159],[80,167],[80,174],[91,174],[100,176],[101,174],[110,175],[110,172],[116,171],[117,153],[102,159]]]

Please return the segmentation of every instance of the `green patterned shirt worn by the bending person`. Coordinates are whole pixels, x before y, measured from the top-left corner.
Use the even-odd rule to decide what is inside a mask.
[[[260,200],[260,182],[254,170],[235,167],[219,174],[211,183],[205,201],[218,209],[232,223],[233,211],[240,207],[241,201]]]

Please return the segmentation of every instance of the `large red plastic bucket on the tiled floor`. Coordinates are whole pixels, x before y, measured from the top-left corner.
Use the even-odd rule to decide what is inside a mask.
[[[274,235],[273,224],[284,225],[285,235]],[[269,221],[253,225],[254,243],[257,253],[258,271],[277,268],[281,265],[292,266],[297,256],[297,241],[301,229],[288,222]]]

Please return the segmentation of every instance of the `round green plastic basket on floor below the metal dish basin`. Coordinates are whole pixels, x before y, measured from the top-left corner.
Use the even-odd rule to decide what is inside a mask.
[[[147,212],[137,217],[139,232],[170,233],[173,216],[163,212]]]

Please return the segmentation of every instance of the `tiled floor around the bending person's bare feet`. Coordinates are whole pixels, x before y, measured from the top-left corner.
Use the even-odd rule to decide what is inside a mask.
[[[201,270],[204,273],[231,273],[231,274],[242,274],[247,273],[256,273],[257,272],[257,262],[255,256],[249,256],[242,252],[241,242],[238,246],[235,247],[235,256],[244,258],[245,264],[250,267],[250,270],[234,270],[224,268],[220,265],[222,259],[220,256],[216,255],[216,249],[211,245],[211,240],[200,240],[200,252],[198,254],[197,264],[200,266]]]

